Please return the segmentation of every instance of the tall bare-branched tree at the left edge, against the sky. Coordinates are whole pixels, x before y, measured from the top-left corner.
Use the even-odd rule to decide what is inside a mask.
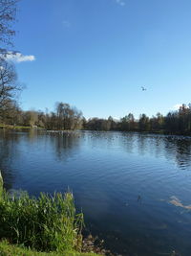
[[[21,89],[17,82],[14,66],[6,60],[15,35],[12,25],[15,21],[18,0],[0,0],[0,115],[6,115],[15,105],[16,93]],[[4,49],[4,48],[6,49]],[[11,51],[12,52],[12,51]]]

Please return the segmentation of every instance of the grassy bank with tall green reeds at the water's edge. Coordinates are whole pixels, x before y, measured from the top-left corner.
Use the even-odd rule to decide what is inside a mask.
[[[87,255],[80,253],[82,227],[83,214],[75,213],[72,193],[42,193],[39,198],[27,193],[9,195],[0,176],[0,240],[17,246],[2,242],[0,255],[47,255],[34,254],[27,248],[51,255]],[[20,244],[25,249],[19,248]]]

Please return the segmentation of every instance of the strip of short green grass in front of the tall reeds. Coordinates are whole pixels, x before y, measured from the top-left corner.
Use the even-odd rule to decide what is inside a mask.
[[[0,243],[1,256],[98,256],[94,253],[80,253],[74,251],[65,251],[64,253],[57,252],[37,252],[27,248],[8,244],[7,242]]]

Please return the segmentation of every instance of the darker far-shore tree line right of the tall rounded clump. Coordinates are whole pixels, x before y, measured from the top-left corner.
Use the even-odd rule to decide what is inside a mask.
[[[85,129],[91,130],[120,130],[139,132],[158,132],[167,134],[191,135],[191,105],[181,105],[179,110],[170,111],[167,115],[157,113],[148,117],[140,114],[136,119],[132,113],[120,120],[111,116],[108,119],[92,118],[83,122]]]

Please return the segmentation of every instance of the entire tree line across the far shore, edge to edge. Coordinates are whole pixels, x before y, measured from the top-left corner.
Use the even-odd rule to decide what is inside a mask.
[[[54,111],[22,110],[15,102],[6,111],[1,110],[0,123],[11,126],[25,126],[46,129],[88,129],[159,132],[168,134],[191,134],[191,105],[181,105],[179,110],[170,111],[163,116],[148,117],[140,114],[136,119],[132,113],[116,120],[112,116],[107,119],[86,119],[76,107],[66,103],[56,103]]]

